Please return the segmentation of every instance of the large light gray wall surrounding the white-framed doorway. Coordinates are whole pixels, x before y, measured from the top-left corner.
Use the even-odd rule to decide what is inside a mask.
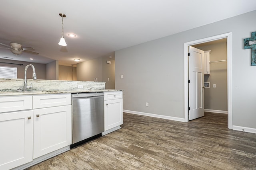
[[[250,66],[251,50],[243,49],[243,39],[256,31],[255,16],[253,11],[116,51],[124,109],[184,118],[184,43],[232,32],[233,125],[256,128],[256,66]]]

